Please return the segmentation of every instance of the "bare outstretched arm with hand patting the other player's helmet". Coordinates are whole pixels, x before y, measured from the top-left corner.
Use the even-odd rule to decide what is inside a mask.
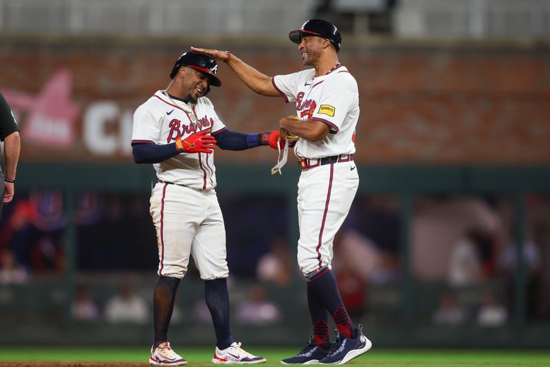
[[[254,67],[251,67],[243,60],[236,57],[234,54],[231,54],[231,52],[199,47],[191,47],[191,50],[207,54],[212,58],[215,58],[218,63],[221,61],[226,63],[234,71],[236,76],[238,76],[247,87],[252,89],[252,91],[267,97],[281,96],[281,93],[279,93],[273,86],[271,76],[262,74],[260,71],[254,69]]]

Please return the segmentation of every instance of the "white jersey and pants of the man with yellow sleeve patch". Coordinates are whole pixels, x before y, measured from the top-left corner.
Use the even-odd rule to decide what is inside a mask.
[[[346,219],[359,186],[350,155],[355,153],[355,126],[359,119],[359,93],[355,78],[338,64],[327,74],[314,69],[272,79],[286,102],[296,101],[300,120],[317,120],[330,127],[320,142],[300,139],[294,153],[311,168],[298,181],[298,265],[305,276],[331,265],[332,243]],[[338,156],[322,163],[320,158]]]

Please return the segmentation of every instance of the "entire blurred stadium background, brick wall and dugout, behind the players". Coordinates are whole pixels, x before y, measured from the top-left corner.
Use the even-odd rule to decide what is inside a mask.
[[[550,346],[548,0],[0,0],[0,91],[23,141],[0,344],[151,342],[154,175],[132,162],[133,111],[191,45],[301,69],[287,34],[313,17],[340,27],[360,87],[360,191],[334,264],[354,320],[377,346]],[[208,97],[230,129],[293,113],[219,76]],[[272,177],[268,148],[216,162],[234,334],[299,345],[298,166]],[[202,295],[191,269],[174,344],[213,344]]]

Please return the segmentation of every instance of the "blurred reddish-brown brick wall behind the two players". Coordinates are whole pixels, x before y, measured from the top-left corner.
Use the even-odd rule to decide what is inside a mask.
[[[27,107],[14,107],[23,132],[39,103],[32,98],[52,76],[65,70],[72,80],[72,144],[43,146],[23,135],[22,159],[28,161],[130,160],[125,137],[131,113],[168,85],[173,61],[188,48],[166,40],[27,39],[0,44],[0,91],[30,98]],[[269,75],[302,69],[295,50],[294,45],[232,47],[234,54]],[[356,159],[374,164],[550,163],[548,55],[547,47],[521,45],[344,47],[340,61],[360,86]],[[257,96],[243,87],[225,65],[219,77],[223,87],[212,88],[208,97],[230,129],[276,129],[281,116],[294,113],[282,98]],[[118,113],[109,121],[87,120],[98,102],[110,102]],[[102,124],[106,139],[116,140],[115,148],[104,153],[91,148],[85,125],[95,123]],[[276,153],[268,148],[216,155],[218,161],[276,162]]]

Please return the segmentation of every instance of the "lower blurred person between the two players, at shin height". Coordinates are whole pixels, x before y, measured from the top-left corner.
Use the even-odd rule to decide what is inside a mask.
[[[248,299],[236,306],[235,320],[239,324],[270,325],[281,321],[282,318],[281,310],[265,299],[265,291],[261,285],[251,285],[248,289]]]

